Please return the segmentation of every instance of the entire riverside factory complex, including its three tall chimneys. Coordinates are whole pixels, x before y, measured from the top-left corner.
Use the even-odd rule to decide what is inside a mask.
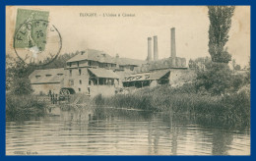
[[[158,36],[148,37],[146,61],[119,58],[87,49],[66,62],[61,69],[35,70],[30,76],[35,94],[87,93],[113,95],[117,88],[178,84],[191,80],[193,71],[186,59],[176,57],[175,28],[170,29],[170,57],[159,60]],[[152,48],[154,56],[152,57]]]

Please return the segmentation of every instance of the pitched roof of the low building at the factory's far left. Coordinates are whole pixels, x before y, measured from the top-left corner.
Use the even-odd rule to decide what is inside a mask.
[[[47,76],[48,77],[47,77]],[[60,76],[62,75],[62,76]],[[32,84],[36,83],[59,83],[63,80],[65,75],[64,68],[48,69],[48,70],[35,70],[30,75]]]

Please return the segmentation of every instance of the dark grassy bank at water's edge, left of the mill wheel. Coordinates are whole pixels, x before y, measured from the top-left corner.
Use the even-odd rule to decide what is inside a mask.
[[[31,116],[43,116],[45,103],[39,102],[33,95],[6,94],[6,118],[8,120],[26,120]]]

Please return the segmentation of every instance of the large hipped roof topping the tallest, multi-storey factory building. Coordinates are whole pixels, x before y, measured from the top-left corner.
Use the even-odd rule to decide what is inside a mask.
[[[67,62],[78,62],[82,60],[92,60],[100,63],[115,64],[114,59],[110,55],[104,53],[103,51],[98,51],[94,49],[87,49],[85,51],[82,51],[78,55],[69,59]]]

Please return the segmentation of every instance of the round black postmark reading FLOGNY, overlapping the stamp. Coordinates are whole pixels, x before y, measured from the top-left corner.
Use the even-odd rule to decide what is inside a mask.
[[[44,66],[58,57],[62,38],[48,21],[32,20],[17,28],[13,46],[16,55],[26,64]]]

